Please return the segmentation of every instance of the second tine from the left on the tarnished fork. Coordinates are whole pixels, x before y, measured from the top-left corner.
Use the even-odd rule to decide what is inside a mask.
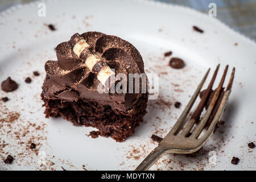
[[[195,124],[195,122],[199,119],[201,112],[204,109],[204,105],[205,102],[207,102],[207,98],[210,94],[210,90],[212,90],[212,86],[214,84],[214,81],[216,79],[217,73],[218,73],[218,69],[220,68],[220,64],[218,64],[217,68],[214,71],[212,80],[210,80],[210,83],[208,85],[206,94],[204,94],[204,97],[201,99],[199,105],[196,107],[195,112],[192,114],[191,118],[189,119],[187,125],[185,126],[185,128],[181,131],[181,135],[182,136],[187,136],[187,134],[189,133],[189,131],[192,129],[193,125]]]

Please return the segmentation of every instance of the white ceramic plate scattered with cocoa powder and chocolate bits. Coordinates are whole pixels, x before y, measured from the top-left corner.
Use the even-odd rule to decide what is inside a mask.
[[[11,154],[15,158],[13,164],[1,160],[1,170],[62,170],[61,167],[133,170],[157,146],[150,136],[164,137],[168,133],[204,73],[218,63],[221,72],[226,64],[236,67],[233,91],[222,118],[225,125],[196,159],[166,155],[151,169],[256,169],[255,149],[247,147],[256,138],[256,44],[253,41],[216,18],[180,6],[128,0],[63,0],[45,4],[46,17],[38,16],[38,3],[15,6],[0,14],[0,80],[11,76],[19,84],[12,93],[0,90],[1,97],[10,98],[8,102],[0,102],[0,118],[9,121],[10,113],[20,114],[12,123],[0,122],[0,156],[4,159]],[[45,25],[49,23],[57,30],[49,30]],[[204,34],[193,31],[193,25],[202,28]],[[46,119],[43,114],[40,92],[44,63],[56,60],[57,44],[67,41],[75,32],[86,31],[101,31],[128,40],[141,52],[146,72],[160,73],[159,99],[149,101],[145,122],[125,142],[102,137],[92,139],[86,134],[93,128],[75,127],[62,118]],[[234,46],[235,43],[238,45]],[[166,51],[184,59],[186,67],[182,70],[168,67],[170,58],[163,59]],[[32,76],[33,71],[39,71],[40,76]],[[24,82],[27,76],[32,78],[31,84]],[[175,101],[181,102],[180,109],[170,103],[163,104]],[[36,149],[28,148],[31,142],[36,143]],[[209,164],[208,159],[214,159],[212,154],[216,154],[216,163]],[[233,156],[240,158],[236,166],[230,163]]]

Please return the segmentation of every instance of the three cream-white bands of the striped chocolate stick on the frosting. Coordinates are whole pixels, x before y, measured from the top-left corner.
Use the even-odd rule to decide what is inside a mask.
[[[89,44],[86,43],[84,39],[81,39],[73,47],[73,52],[77,55],[77,57],[80,57],[82,51],[89,51],[88,48]],[[98,61],[101,61],[100,56],[90,52],[89,56],[85,60],[85,65],[90,71],[92,71],[94,65],[97,64]],[[97,74],[97,79],[101,82],[102,85],[105,86],[107,90],[109,90],[111,86],[109,85],[109,78],[113,77],[115,73],[111,70],[111,68],[108,65],[106,65]]]

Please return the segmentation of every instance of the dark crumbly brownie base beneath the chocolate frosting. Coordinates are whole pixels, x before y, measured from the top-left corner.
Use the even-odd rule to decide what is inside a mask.
[[[132,135],[147,113],[148,94],[142,94],[133,107],[134,112],[113,110],[110,105],[93,100],[64,101],[47,98],[44,93],[41,97],[46,107],[46,118],[61,116],[76,126],[96,127],[102,137],[111,137],[117,142]]]

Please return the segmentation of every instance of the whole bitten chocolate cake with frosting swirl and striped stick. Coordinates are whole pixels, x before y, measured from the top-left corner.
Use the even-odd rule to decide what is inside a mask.
[[[101,136],[117,142],[132,135],[146,114],[148,93],[142,92],[141,81],[141,92],[129,92],[129,86],[134,88],[135,84],[128,79],[122,80],[127,85],[121,85],[126,92],[110,92],[121,78],[115,77],[110,86],[108,78],[119,73],[126,78],[130,73],[143,75],[144,64],[137,49],[117,36],[85,32],[60,43],[56,55],[57,61],[45,64],[41,96],[46,118],[61,115],[74,125],[96,127]]]

